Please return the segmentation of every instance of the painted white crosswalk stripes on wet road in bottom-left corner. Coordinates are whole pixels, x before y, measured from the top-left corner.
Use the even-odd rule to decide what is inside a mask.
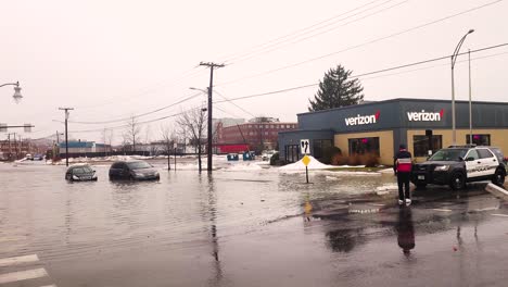
[[[46,269],[41,266],[37,254],[0,258],[0,267],[2,267],[0,271],[5,272],[0,273],[0,286],[3,284],[16,284],[17,282],[20,282],[21,286],[28,286],[25,284],[25,280],[36,279],[31,284],[38,282],[39,286],[43,285],[40,287],[56,287],[56,285],[48,282],[51,278]]]

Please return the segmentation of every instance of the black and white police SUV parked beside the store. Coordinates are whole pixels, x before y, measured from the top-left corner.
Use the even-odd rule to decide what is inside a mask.
[[[417,187],[428,184],[449,185],[453,189],[466,183],[492,180],[503,186],[507,164],[498,148],[452,146],[435,152],[423,163],[412,166],[411,182]]]

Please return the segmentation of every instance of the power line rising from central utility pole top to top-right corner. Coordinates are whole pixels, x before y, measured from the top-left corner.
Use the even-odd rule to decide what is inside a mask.
[[[407,34],[409,32],[420,29],[420,28],[423,28],[423,27],[427,27],[427,26],[430,26],[430,25],[433,25],[433,24],[436,24],[436,23],[440,23],[440,22],[444,22],[446,20],[457,17],[457,16],[460,16],[460,15],[463,15],[463,14],[467,14],[467,13],[470,13],[470,12],[473,12],[473,11],[490,7],[490,5],[493,5],[493,4],[501,2],[501,1],[504,1],[504,0],[496,0],[496,1],[493,1],[493,2],[488,2],[486,4],[478,5],[478,7],[474,7],[474,8],[471,8],[471,9],[468,9],[468,10],[465,10],[465,11],[461,11],[461,12],[445,16],[445,17],[441,17],[439,20],[434,20],[434,21],[431,21],[431,22],[428,22],[428,23],[424,23],[424,24],[421,24],[421,25],[414,26],[411,28],[408,28],[408,29],[405,29],[405,30],[402,30],[402,32],[393,33],[393,34],[390,34],[388,36],[379,37],[379,38],[376,38],[376,39],[372,39],[372,40],[369,40],[369,41],[365,41],[363,43],[351,46],[351,47],[342,49],[340,51],[335,51],[335,52],[331,52],[331,53],[323,54],[323,55],[320,55],[320,57],[312,58],[312,59],[301,61],[301,62],[297,62],[297,63],[293,63],[293,64],[290,64],[290,65],[285,65],[285,66],[282,66],[282,67],[268,70],[268,71],[265,71],[263,73],[254,74],[254,75],[251,75],[251,76],[245,76],[245,77],[237,78],[237,79],[233,79],[233,80],[230,80],[230,82],[225,82],[225,83],[218,84],[216,86],[231,85],[231,84],[238,83],[240,80],[272,74],[272,73],[276,73],[276,72],[279,72],[279,71],[282,71],[282,70],[288,70],[288,68],[295,67],[295,66],[299,66],[299,65],[303,65],[303,64],[306,64],[306,63],[309,63],[309,62],[321,60],[321,59],[325,59],[325,58],[328,58],[328,57],[331,57],[331,55],[335,55],[335,54],[346,52],[346,51],[350,51],[350,50],[354,50],[354,49],[357,49],[357,48],[360,48],[360,47],[364,47],[364,46],[367,46],[367,45],[371,45],[371,43],[374,43],[374,42],[378,42],[378,41],[382,41],[382,40],[385,40],[385,39],[389,39],[389,38],[393,38],[393,37],[396,37],[396,36],[403,35],[403,34]]]

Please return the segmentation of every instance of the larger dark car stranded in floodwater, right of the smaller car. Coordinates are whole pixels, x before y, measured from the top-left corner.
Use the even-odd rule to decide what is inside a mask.
[[[145,161],[117,161],[110,167],[110,179],[158,180],[157,170]]]

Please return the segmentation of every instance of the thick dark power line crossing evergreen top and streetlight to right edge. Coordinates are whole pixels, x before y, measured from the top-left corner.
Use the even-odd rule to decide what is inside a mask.
[[[486,51],[486,50],[491,50],[491,49],[496,49],[496,48],[500,48],[500,47],[505,47],[505,46],[508,46],[508,42],[506,42],[506,43],[500,43],[500,45],[495,45],[495,46],[491,46],[491,47],[485,47],[485,48],[480,48],[480,49],[477,49],[477,50],[471,50],[471,53],[481,52],[481,51]],[[467,53],[468,53],[468,52],[462,52],[462,53],[459,53],[458,55],[467,54]],[[385,72],[389,72],[389,71],[399,70],[399,68],[404,68],[404,67],[409,67],[409,66],[415,66],[415,65],[421,65],[421,64],[426,64],[426,63],[436,62],[436,61],[441,61],[441,60],[444,60],[444,59],[448,59],[448,58],[450,58],[450,57],[452,57],[452,55],[439,57],[439,58],[434,58],[434,59],[429,59],[429,60],[423,60],[423,61],[414,62],[414,63],[410,63],[410,64],[397,65],[397,66],[388,67],[388,68],[382,68],[382,70],[377,70],[377,71],[372,71],[372,72],[368,72],[368,73],[364,73],[364,74],[352,75],[351,77],[364,77],[364,76],[368,76],[368,75],[385,73]],[[268,91],[268,92],[254,93],[254,95],[249,95],[249,96],[243,96],[243,97],[238,97],[238,98],[231,98],[231,99],[229,99],[229,101],[237,101],[237,100],[244,100],[244,99],[250,99],[250,98],[257,98],[257,97],[269,96],[269,95],[275,95],[275,93],[282,93],[282,92],[287,92],[287,91],[293,91],[293,90],[299,90],[299,89],[304,89],[304,88],[310,88],[310,87],[315,87],[315,86],[318,86],[318,85],[319,85],[319,83],[315,83],[315,84],[308,84],[308,85],[303,85],[303,86],[296,86],[296,87],[292,87],[292,88],[279,89],[279,90]],[[215,103],[220,103],[220,102],[225,102],[225,101],[226,101],[226,100],[219,100],[219,101],[216,101]]]

